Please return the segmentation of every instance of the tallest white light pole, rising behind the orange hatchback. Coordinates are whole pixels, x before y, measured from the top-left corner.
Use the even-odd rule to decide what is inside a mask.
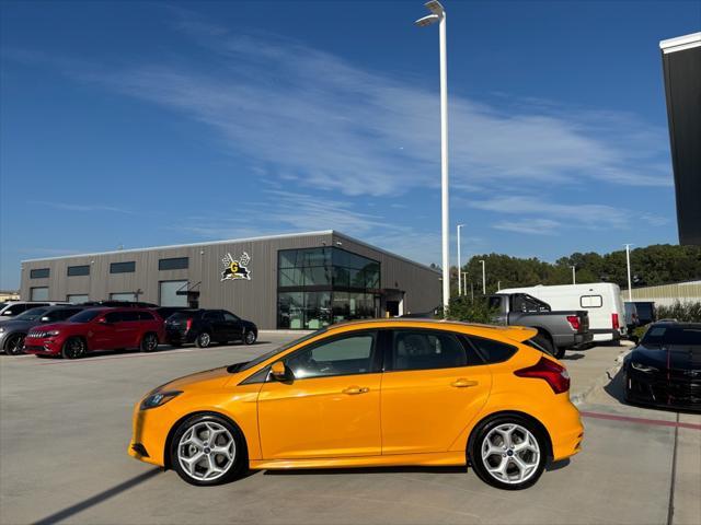
[[[440,43],[440,207],[443,229],[443,305],[450,301],[450,252],[448,247],[448,66],[446,60],[446,10],[437,0],[425,3],[430,14],[414,22],[420,27],[438,22]]]

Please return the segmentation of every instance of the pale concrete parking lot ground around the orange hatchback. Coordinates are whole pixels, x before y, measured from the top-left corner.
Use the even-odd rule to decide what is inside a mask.
[[[584,451],[520,492],[463,468],[411,467],[258,471],[196,488],[127,456],[131,408],[147,390],[292,337],[79,361],[0,357],[0,523],[699,523],[701,417],[622,404],[620,375],[606,376],[622,347],[568,352]]]

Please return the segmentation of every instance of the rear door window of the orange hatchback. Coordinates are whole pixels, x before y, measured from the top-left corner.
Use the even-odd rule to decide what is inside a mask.
[[[392,337],[391,370],[455,369],[468,364],[460,340],[437,330],[397,330]]]

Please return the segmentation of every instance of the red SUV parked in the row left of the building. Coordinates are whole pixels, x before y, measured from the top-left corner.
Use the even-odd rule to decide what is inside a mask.
[[[83,310],[65,323],[32,328],[24,339],[24,352],[67,359],[123,348],[151,352],[165,339],[163,326],[157,313],[145,308]]]

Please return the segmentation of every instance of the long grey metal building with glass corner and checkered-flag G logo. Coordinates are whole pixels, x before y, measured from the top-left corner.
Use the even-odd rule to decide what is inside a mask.
[[[24,300],[225,308],[262,329],[441,303],[439,271],[333,230],[24,260],[21,282]]]

